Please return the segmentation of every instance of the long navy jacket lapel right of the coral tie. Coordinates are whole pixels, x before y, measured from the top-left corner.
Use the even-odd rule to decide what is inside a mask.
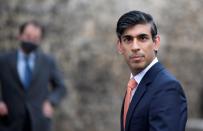
[[[151,67],[151,69],[149,69],[149,71],[145,74],[145,76],[141,80],[140,84],[138,85],[137,90],[130,103],[128,113],[126,116],[125,131],[128,131],[129,124],[130,124],[130,121],[133,116],[133,112],[134,112],[134,110],[136,110],[136,106],[138,105],[141,98],[144,96],[150,83],[156,78],[156,75],[162,69],[164,69],[164,67],[159,62],[157,62],[154,66]]]

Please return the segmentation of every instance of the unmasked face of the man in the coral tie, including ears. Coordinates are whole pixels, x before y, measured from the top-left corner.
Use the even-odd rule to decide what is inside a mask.
[[[155,51],[159,45],[160,37],[152,39],[150,24],[138,24],[123,33],[121,40],[118,40],[117,49],[124,56],[132,73],[136,75],[156,57]]]

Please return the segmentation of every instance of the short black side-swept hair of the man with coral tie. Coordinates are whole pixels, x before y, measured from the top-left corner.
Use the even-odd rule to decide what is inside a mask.
[[[136,10],[127,12],[119,18],[116,27],[116,33],[119,40],[121,40],[121,36],[126,29],[137,24],[150,24],[152,39],[155,40],[157,36],[157,27],[152,16],[150,14]]]

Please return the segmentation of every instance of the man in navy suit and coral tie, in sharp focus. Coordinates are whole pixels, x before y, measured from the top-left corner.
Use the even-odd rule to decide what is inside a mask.
[[[131,77],[121,110],[121,131],[185,131],[187,103],[176,78],[158,62],[160,36],[151,15],[130,11],[117,23],[117,49]]]

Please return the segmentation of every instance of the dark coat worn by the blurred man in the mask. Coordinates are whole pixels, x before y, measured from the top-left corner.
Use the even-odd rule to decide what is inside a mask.
[[[17,72],[17,51],[0,56],[0,70],[0,101],[8,107],[8,115],[0,117],[0,131],[22,131],[26,112],[31,119],[32,131],[48,131],[50,119],[44,116],[42,105],[49,100],[56,106],[65,95],[64,82],[54,59],[37,51],[31,85],[27,90]]]

